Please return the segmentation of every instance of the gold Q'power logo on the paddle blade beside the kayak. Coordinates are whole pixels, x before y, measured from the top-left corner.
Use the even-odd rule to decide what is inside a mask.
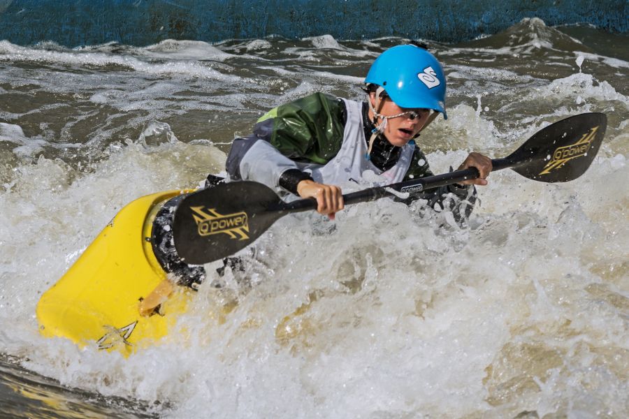
[[[190,207],[192,217],[196,221],[197,233],[200,236],[225,233],[232,239],[249,239],[249,222],[244,211],[222,215],[214,208],[204,210],[205,207]]]

